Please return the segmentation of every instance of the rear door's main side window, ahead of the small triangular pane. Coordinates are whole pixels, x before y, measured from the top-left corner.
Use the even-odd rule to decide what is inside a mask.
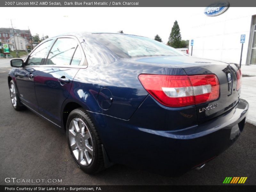
[[[77,43],[72,38],[59,38],[52,46],[46,65],[70,65]]]

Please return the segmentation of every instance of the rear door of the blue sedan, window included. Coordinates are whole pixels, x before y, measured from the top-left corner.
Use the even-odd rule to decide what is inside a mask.
[[[35,92],[39,113],[61,125],[61,106],[68,98],[72,81],[85,60],[79,41],[73,36],[58,37],[43,65],[35,68]],[[78,60],[75,60],[75,55]]]

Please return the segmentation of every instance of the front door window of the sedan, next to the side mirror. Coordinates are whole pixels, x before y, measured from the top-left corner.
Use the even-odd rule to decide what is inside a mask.
[[[36,48],[35,51],[29,56],[28,62],[26,65],[43,65],[45,58],[49,52],[52,40],[46,41]]]

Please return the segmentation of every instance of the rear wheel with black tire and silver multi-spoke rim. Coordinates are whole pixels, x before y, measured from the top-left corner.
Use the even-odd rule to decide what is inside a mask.
[[[83,108],[70,112],[66,134],[70,153],[80,169],[89,174],[104,169],[100,137],[91,117]]]

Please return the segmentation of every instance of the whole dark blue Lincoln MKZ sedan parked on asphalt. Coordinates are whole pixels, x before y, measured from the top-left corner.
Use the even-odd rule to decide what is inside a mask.
[[[11,66],[13,108],[65,129],[86,173],[114,163],[169,176],[200,168],[234,143],[249,107],[238,65],[142,36],[56,36]]]

